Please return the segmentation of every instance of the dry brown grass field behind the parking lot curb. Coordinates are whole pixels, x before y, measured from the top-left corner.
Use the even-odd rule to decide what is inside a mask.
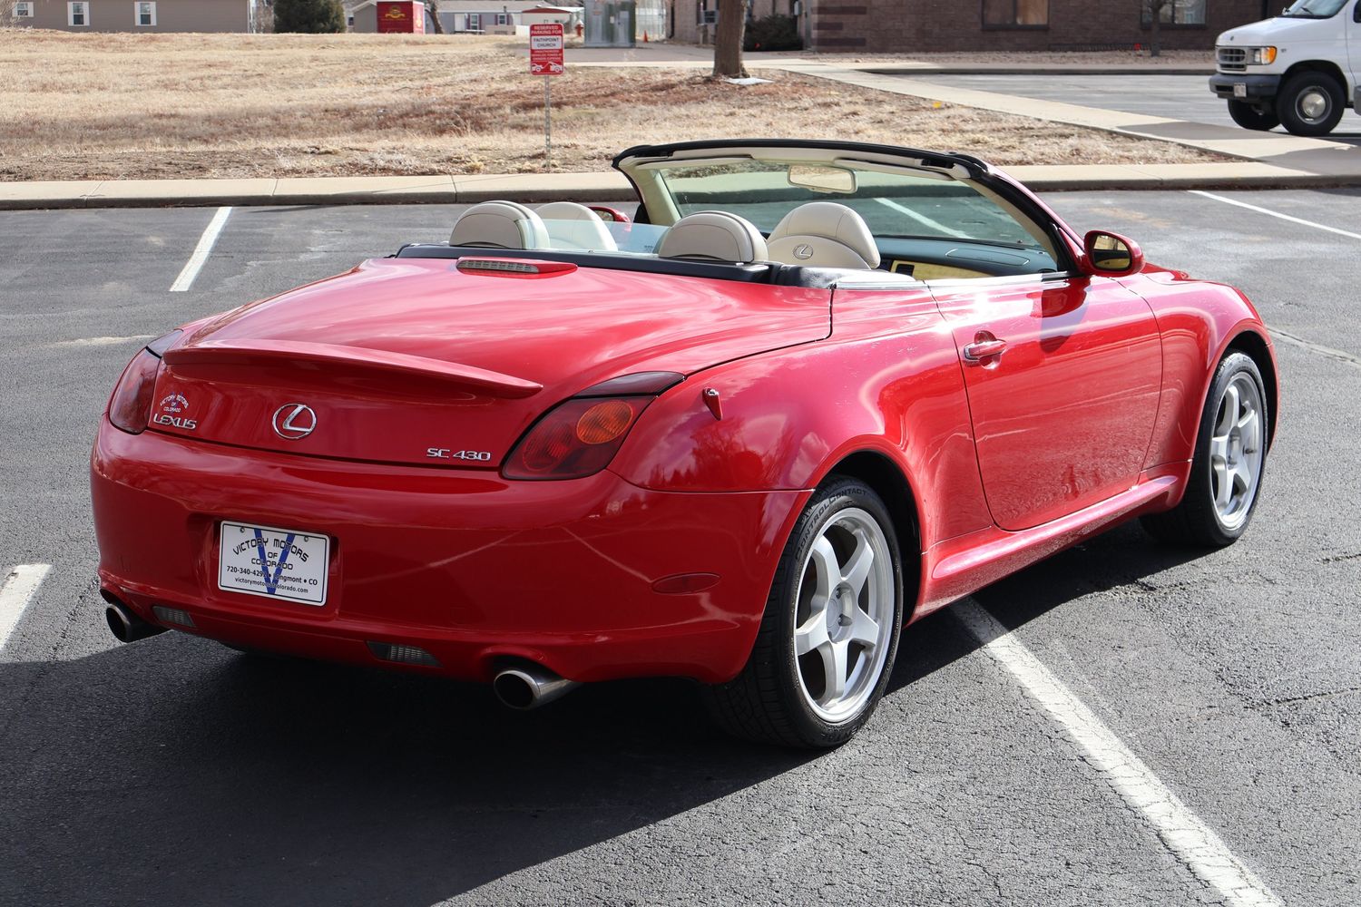
[[[543,167],[543,84],[493,37],[171,35],[0,30],[0,179],[523,173]],[[1000,165],[1213,159],[784,72],[554,79],[558,170],[640,141],[842,137]]]

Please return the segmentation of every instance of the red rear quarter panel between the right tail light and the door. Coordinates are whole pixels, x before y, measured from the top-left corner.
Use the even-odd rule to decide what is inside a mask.
[[[991,525],[954,341],[921,287],[836,291],[830,339],[693,375],[648,408],[611,469],[661,491],[813,488],[860,450],[905,473],[923,548]]]

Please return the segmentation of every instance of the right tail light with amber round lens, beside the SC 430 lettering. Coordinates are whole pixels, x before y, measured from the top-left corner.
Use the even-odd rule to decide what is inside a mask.
[[[583,390],[525,432],[501,475],[529,480],[593,476],[610,465],[648,404],[683,379],[674,371],[646,371]]]

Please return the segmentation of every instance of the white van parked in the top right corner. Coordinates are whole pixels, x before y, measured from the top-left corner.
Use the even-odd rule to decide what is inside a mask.
[[[1274,19],[1229,29],[1214,50],[1210,90],[1236,124],[1327,135],[1357,106],[1361,0],[1296,0]]]

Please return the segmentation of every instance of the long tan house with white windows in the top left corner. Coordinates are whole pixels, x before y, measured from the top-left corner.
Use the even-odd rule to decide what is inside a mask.
[[[255,31],[253,0],[0,0],[18,27],[61,31]]]

